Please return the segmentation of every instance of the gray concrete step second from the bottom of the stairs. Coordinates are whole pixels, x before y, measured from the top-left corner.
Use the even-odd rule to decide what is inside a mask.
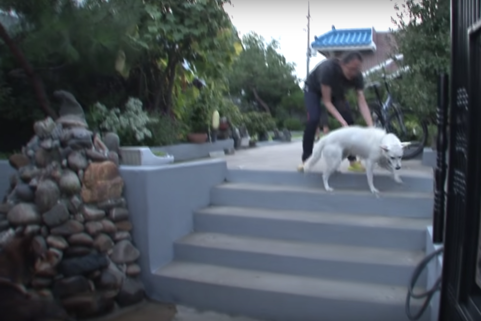
[[[290,275],[404,286],[423,251],[378,249],[219,233],[192,233],[174,259]],[[419,280],[426,286],[426,275]]]

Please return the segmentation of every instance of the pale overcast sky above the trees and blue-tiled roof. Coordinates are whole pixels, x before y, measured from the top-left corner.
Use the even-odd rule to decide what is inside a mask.
[[[334,24],[336,29],[370,28],[387,31],[393,28],[394,4],[403,0],[337,0],[310,1],[310,39],[320,36]],[[280,52],[296,64],[299,78],[306,74],[307,0],[232,0],[233,6],[225,6],[232,22],[242,34],[255,31],[267,40],[278,39]],[[322,56],[311,58],[312,68]]]

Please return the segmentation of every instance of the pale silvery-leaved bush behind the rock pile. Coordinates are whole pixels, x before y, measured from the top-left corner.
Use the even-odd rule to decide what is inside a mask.
[[[96,102],[91,109],[89,120],[91,125],[101,131],[117,133],[121,141],[125,143],[142,143],[152,137],[148,124],[158,122],[158,119],[149,117],[142,109],[142,101],[130,97],[122,111],[119,108],[107,109]]]

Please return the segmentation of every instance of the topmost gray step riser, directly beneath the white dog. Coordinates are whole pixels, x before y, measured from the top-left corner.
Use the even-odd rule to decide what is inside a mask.
[[[433,175],[408,176],[402,175],[403,184],[396,183],[389,174],[375,174],[374,185],[380,191],[404,191],[430,193],[433,191]],[[227,181],[235,183],[256,183],[271,185],[304,186],[324,189],[321,173],[298,173],[288,171],[259,171],[230,169]],[[339,173],[332,174],[329,184],[333,189],[367,191],[367,178],[365,173]]]

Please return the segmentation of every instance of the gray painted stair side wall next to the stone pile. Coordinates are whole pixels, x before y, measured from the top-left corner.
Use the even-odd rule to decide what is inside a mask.
[[[133,239],[147,295],[152,272],[174,258],[174,242],[193,229],[193,211],[210,204],[210,190],[227,176],[223,159],[169,166],[121,166]]]

